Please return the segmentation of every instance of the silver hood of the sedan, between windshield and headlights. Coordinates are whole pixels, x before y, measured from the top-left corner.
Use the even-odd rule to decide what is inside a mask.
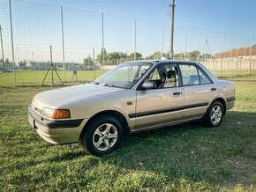
[[[125,89],[103,85],[74,85],[41,92],[34,96],[32,105],[41,110],[42,107],[58,108],[77,100],[86,100],[113,92],[124,92]]]

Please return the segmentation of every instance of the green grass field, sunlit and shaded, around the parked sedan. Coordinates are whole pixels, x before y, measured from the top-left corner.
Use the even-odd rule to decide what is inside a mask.
[[[0,86],[0,191],[256,191],[256,76],[230,80],[236,106],[220,127],[133,134],[104,157],[48,144],[30,128],[27,106],[53,87]]]

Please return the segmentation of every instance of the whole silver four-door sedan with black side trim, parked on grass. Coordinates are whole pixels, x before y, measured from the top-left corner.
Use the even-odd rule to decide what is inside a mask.
[[[222,122],[234,106],[235,87],[200,63],[135,61],[119,64],[91,84],[34,96],[28,107],[33,129],[51,144],[81,141],[102,155],[131,132],[202,119]]]

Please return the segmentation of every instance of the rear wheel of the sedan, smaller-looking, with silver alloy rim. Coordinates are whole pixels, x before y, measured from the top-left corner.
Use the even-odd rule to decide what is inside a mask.
[[[224,107],[219,101],[214,101],[211,106],[207,109],[203,121],[208,127],[218,127],[225,114]]]

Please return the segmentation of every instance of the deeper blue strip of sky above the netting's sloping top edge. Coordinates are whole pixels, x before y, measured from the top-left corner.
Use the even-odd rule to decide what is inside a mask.
[[[114,15],[169,21],[170,0],[28,0]],[[256,28],[255,0],[176,0],[177,26],[250,34]]]

